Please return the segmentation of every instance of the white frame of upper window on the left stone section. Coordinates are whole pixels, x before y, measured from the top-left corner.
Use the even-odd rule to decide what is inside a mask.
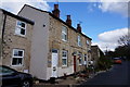
[[[25,27],[22,27],[22,26],[17,25],[18,22],[24,23],[24,24],[25,24]],[[25,34],[24,34],[24,35],[21,34],[21,30],[22,30],[22,29],[25,29]],[[17,30],[18,30],[18,32],[17,32]],[[23,37],[26,36],[26,23],[25,23],[25,22],[16,21],[15,35],[23,36]]]

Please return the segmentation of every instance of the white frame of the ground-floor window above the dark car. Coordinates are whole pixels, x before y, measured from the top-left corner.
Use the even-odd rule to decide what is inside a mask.
[[[14,55],[14,51],[22,51],[23,52],[23,55],[22,57],[18,57],[18,55]],[[13,64],[13,59],[22,59],[22,64]],[[17,61],[18,62],[18,61]],[[23,63],[24,63],[24,50],[22,49],[13,49],[13,53],[12,53],[12,62],[11,62],[11,65],[12,66],[23,66]]]

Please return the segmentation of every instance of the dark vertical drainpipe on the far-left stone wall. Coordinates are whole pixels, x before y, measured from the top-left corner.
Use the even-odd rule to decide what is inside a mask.
[[[2,35],[1,35],[1,48],[0,48],[0,59],[2,60],[2,53],[3,53],[3,36],[4,36],[4,28],[5,28],[5,20],[6,20],[6,14],[3,13],[3,25],[2,25]]]

